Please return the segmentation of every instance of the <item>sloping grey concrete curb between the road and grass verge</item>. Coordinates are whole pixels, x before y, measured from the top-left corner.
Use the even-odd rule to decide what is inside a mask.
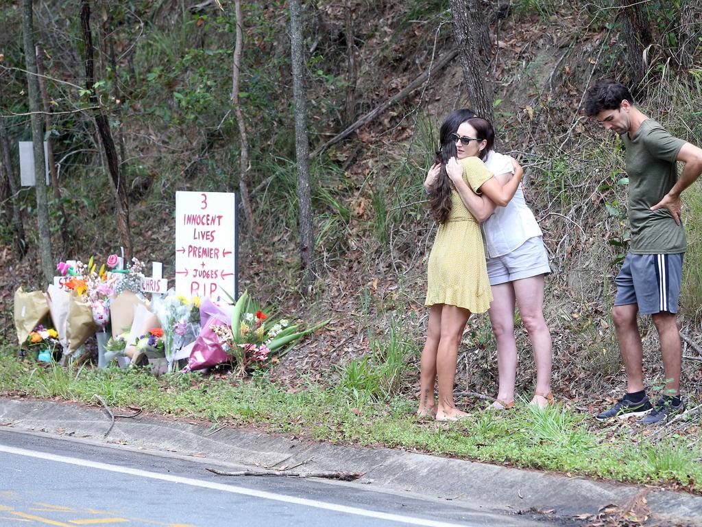
[[[212,430],[203,424],[139,416],[117,419],[107,438],[104,410],[53,401],[0,398],[0,427],[44,431],[103,444],[208,457],[249,467],[293,467],[310,471],[366,474],[357,483],[378,490],[411,492],[489,505],[503,512],[549,511],[564,518],[596,514],[605,505],[623,505],[643,486],[454,460],[388,448],[312,443],[241,429]],[[646,496],[652,518],[665,525],[702,526],[702,497],[652,489]],[[552,512],[551,512],[552,511]]]

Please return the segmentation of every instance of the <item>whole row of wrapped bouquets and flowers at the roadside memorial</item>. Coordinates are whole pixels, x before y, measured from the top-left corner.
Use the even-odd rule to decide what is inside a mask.
[[[123,268],[124,267],[124,268]],[[206,370],[220,363],[252,375],[279,361],[291,345],[326,322],[303,327],[277,317],[244,292],[232,304],[187,298],[173,289],[143,292],[144,264],[123,266],[61,261],[60,278],[44,292],[15,292],[20,356],[51,363],[90,360],[86,341],[97,341],[98,367],[149,366],[154,372]],[[88,346],[90,348],[91,346]]]

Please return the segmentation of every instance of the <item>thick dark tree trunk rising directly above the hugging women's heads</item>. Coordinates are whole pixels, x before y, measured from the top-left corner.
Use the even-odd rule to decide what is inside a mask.
[[[494,122],[494,93],[487,68],[491,53],[490,36],[479,0],[449,0],[453,15],[453,35],[468,89],[472,110]]]

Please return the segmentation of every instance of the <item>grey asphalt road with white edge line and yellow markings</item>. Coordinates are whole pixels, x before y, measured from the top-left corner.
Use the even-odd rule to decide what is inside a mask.
[[[0,526],[538,526],[357,483],[218,476],[208,460],[0,429]],[[450,498],[450,497],[447,497]],[[552,523],[551,523],[552,524]]]

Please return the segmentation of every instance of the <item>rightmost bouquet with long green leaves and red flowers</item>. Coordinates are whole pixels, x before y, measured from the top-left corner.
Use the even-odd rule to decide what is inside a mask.
[[[329,320],[325,320],[299,331],[300,324],[291,325],[289,320],[273,321],[270,318],[244,292],[234,305],[232,325],[213,326],[222,349],[234,358],[238,375],[244,376],[252,370],[278,362],[289,351],[289,348],[284,349],[285,346],[329,323]]]

